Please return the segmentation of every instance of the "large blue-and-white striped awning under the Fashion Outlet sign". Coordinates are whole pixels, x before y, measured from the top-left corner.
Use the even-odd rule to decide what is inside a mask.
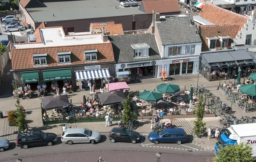
[[[75,72],[76,72],[76,80],[102,79],[102,78],[111,77],[111,75],[108,71],[108,68],[75,71]]]

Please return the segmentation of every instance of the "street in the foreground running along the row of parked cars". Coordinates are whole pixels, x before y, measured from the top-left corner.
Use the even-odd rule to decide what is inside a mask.
[[[214,156],[214,152],[204,151],[204,148],[190,142],[182,145],[175,143],[155,145],[144,134],[142,141],[137,144],[111,143],[108,134],[102,134],[100,142],[95,145],[89,143],[67,145],[62,143],[59,137],[58,142],[52,146],[22,149],[16,147],[13,141],[10,142],[8,150],[0,153],[0,161],[15,162],[20,158],[22,162],[96,162],[101,156],[106,162],[155,162],[157,151],[162,153],[161,162],[206,162],[208,159],[211,161]]]

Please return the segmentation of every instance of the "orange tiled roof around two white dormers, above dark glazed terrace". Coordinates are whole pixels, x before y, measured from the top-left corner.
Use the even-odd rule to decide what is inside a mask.
[[[208,51],[207,37],[230,36],[231,40],[236,37],[239,24],[215,24],[199,26],[199,31],[203,40],[202,51]],[[230,42],[231,43],[231,42]],[[217,41],[216,50],[221,50],[220,43]]]

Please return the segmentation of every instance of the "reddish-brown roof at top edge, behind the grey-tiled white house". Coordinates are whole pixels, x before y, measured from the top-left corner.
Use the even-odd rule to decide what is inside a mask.
[[[143,9],[140,8],[144,7]],[[146,14],[152,14],[152,10],[158,13],[177,12],[180,11],[180,6],[177,0],[147,0],[142,1],[139,10]]]

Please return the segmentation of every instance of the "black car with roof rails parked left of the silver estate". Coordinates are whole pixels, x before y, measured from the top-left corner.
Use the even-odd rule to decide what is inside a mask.
[[[42,131],[27,131],[18,134],[16,145],[25,149],[31,146],[51,146],[57,140],[58,136],[56,134],[44,133]]]

